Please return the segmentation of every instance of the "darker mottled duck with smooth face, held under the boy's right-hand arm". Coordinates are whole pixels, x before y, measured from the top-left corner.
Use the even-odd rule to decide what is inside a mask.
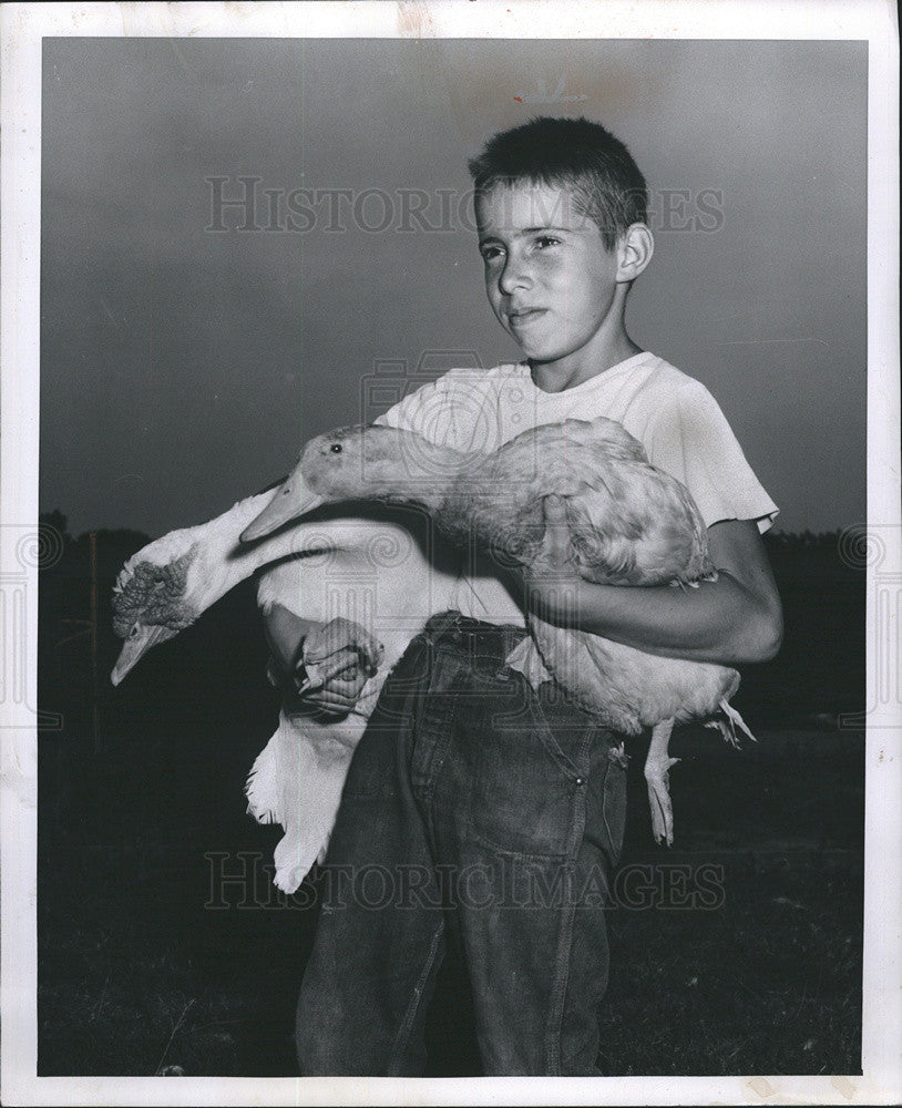
[[[576,555],[599,579],[685,587],[716,576],[704,522],[685,486],[654,469],[637,440],[608,419],[537,427],[492,454],[462,454],[394,428],[339,429],[307,444],[242,538],[257,540],[324,503],[371,499],[421,505],[452,542],[474,540],[529,564],[542,545],[549,494],[564,499]],[[529,623],[532,638],[509,664],[534,685],[551,670],[617,732],[653,729],[645,777],[655,838],[669,845],[674,724],[705,720],[734,745],[737,726],[754,738],[729,705],[739,674],[646,654],[535,615]]]

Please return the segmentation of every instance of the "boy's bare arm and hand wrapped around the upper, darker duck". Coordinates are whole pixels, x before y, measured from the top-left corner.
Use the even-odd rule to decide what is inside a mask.
[[[715,523],[708,543],[718,579],[697,588],[596,584],[570,557],[563,502],[549,496],[542,555],[523,574],[527,599],[551,623],[648,654],[727,666],[769,660],[782,639],[782,609],[757,523]]]

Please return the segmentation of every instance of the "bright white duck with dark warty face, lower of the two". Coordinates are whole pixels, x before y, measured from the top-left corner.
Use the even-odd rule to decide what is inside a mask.
[[[422,516],[373,513],[366,505],[360,515],[305,522],[243,546],[242,530],[270,499],[271,492],[250,496],[129,558],[113,597],[114,629],[125,643],[112,681],[117,685],[146,650],[259,570],[257,603],[264,612],[280,604],[305,619],[344,617],[362,626],[355,645],[370,664],[381,665],[355,710],[341,719],[317,716],[286,693],[278,728],[247,780],[248,811],[285,829],[275,850],[275,883],[291,893],[325,854],[351,755],[386,675],[429,616],[452,606],[457,576],[453,562],[443,563],[449,552],[427,542]],[[307,669],[316,675],[316,666]]]

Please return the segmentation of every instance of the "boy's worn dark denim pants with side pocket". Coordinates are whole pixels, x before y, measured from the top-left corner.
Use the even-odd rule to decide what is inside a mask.
[[[421,1074],[449,942],[486,1074],[598,1073],[626,759],[555,685],[504,665],[524,635],[444,613],[389,675],[322,871],[303,1074]]]

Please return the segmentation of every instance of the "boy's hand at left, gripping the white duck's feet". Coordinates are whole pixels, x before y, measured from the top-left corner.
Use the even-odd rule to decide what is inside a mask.
[[[381,643],[360,624],[331,619],[304,640],[296,691],[327,715],[347,715],[379,668],[383,653]]]

